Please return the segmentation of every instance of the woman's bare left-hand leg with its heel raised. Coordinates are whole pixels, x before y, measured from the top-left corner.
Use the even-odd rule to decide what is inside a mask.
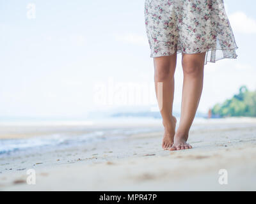
[[[176,62],[177,54],[154,57],[156,96],[164,126],[163,149],[172,147],[175,135],[176,119],[172,115],[172,106]]]

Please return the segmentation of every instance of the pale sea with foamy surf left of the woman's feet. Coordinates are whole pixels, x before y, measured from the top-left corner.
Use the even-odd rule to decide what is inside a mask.
[[[179,118],[177,120],[179,124]],[[206,120],[195,118],[197,123]],[[162,120],[152,117],[107,117],[94,120],[1,119],[0,157],[33,150],[88,145],[104,140],[122,140],[138,133],[160,131],[163,131]],[[25,136],[12,136],[15,134]]]

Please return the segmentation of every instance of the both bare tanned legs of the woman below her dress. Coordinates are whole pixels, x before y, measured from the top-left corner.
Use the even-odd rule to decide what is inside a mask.
[[[177,54],[154,57],[154,80],[156,96],[163,118],[163,149],[191,149],[187,143],[189,129],[195,119],[202,95],[204,82],[205,52],[198,54],[182,54],[183,87],[179,128],[175,131],[177,120],[172,115],[174,95],[174,73]],[[159,86],[159,83],[163,83]],[[162,88],[163,87],[163,88]],[[159,92],[162,92],[159,94]]]

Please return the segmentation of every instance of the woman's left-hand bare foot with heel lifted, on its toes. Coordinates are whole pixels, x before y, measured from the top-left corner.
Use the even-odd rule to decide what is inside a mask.
[[[173,137],[175,135],[176,118],[170,117],[170,121],[163,122],[164,125],[164,138],[163,138],[163,149],[169,149],[173,145]]]

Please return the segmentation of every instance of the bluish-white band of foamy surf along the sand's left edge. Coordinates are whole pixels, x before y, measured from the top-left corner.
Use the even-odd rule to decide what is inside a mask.
[[[101,121],[104,124],[103,121]],[[108,121],[109,124],[113,121]],[[120,122],[120,120],[119,120]],[[79,123],[81,124],[81,123]],[[82,123],[83,124],[83,123]],[[67,123],[65,124],[67,125]],[[74,125],[72,122],[71,125]],[[31,124],[23,123],[21,126],[31,127]],[[42,125],[44,127],[44,125]],[[40,126],[40,127],[42,127]],[[72,135],[69,133],[58,133],[45,136],[32,136],[31,138],[16,138],[16,139],[1,139],[0,140],[0,156],[6,154],[13,154],[14,152],[28,152],[28,151],[40,151],[47,150],[49,148],[61,148],[68,146],[79,146],[85,143],[100,142],[102,140],[119,140],[125,136],[129,136],[136,133],[148,133],[150,131],[159,131],[161,128],[124,128],[120,126],[119,128],[101,128],[95,129],[83,135]],[[76,133],[76,130],[74,131]],[[25,133],[26,134],[26,133]]]

